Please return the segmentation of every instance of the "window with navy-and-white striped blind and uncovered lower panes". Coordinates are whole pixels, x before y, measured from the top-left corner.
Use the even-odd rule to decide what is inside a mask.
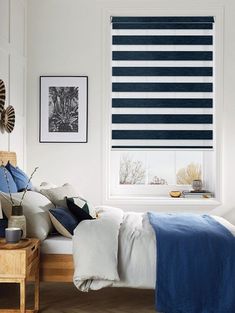
[[[213,191],[211,16],[112,17],[112,195]]]

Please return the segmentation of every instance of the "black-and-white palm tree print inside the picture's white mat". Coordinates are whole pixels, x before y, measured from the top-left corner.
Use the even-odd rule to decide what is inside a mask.
[[[49,132],[78,132],[79,87],[49,87]]]

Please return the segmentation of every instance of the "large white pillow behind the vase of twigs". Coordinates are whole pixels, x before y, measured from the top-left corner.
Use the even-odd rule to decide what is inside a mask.
[[[13,201],[19,204],[23,192],[12,194]],[[12,205],[9,202],[10,196],[7,193],[0,194],[2,209],[6,216],[11,216]],[[54,208],[45,196],[35,191],[27,191],[23,201],[23,214],[26,218],[27,237],[35,237],[40,240],[47,238],[52,230],[52,223],[49,217],[49,209]]]

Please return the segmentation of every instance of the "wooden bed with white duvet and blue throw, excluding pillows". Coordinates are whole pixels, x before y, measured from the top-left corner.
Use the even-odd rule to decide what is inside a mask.
[[[15,153],[1,152],[0,160],[16,165]],[[76,226],[72,240],[48,236],[42,242],[42,281],[73,281],[81,291],[155,289],[161,312],[235,312],[234,225],[197,214],[111,207],[96,213],[98,218]]]

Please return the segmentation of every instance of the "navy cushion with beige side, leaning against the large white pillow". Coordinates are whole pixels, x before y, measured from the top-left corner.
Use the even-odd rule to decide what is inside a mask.
[[[49,215],[58,233],[62,236],[72,238],[73,231],[78,225],[77,218],[65,208],[50,209]]]

